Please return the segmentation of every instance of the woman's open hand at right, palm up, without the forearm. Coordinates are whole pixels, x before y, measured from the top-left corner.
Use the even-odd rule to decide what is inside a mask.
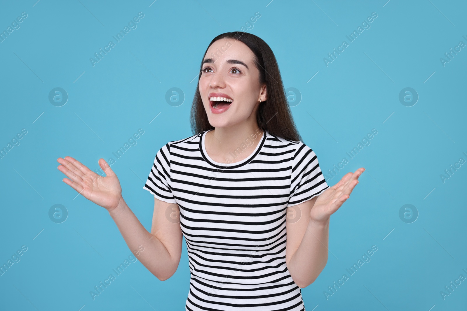
[[[349,172],[333,187],[327,188],[318,195],[310,211],[311,221],[324,223],[342,206],[349,197],[354,187],[358,184],[358,178],[365,168],[361,167],[355,173]]]

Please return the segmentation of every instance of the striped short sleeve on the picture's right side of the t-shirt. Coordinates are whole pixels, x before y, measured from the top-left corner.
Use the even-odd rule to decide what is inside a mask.
[[[287,207],[298,205],[329,188],[319,168],[318,157],[303,143],[297,146],[290,179],[290,199]]]

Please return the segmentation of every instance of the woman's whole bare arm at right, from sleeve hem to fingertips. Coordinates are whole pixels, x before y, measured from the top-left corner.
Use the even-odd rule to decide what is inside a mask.
[[[350,197],[363,171],[361,167],[347,173],[320,195],[288,208],[285,261],[299,287],[313,283],[324,269],[329,251],[329,218]]]

